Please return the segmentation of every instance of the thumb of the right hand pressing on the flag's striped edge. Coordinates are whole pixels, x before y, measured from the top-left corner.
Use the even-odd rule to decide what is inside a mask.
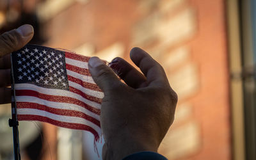
[[[121,81],[115,73],[102,60],[92,57],[89,60],[88,67],[95,83],[103,90],[104,93],[113,90],[119,86]]]

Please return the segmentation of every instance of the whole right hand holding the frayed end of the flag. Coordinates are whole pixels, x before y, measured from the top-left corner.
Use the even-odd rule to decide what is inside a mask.
[[[122,58],[110,63],[113,70],[97,57],[89,61],[93,80],[105,95],[100,114],[106,142],[103,159],[122,159],[141,151],[157,152],[174,119],[177,94],[163,67],[139,48],[133,48],[130,56],[143,74]]]

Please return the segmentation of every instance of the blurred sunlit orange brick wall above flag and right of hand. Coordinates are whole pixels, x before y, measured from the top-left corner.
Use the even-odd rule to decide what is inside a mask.
[[[163,65],[179,95],[159,148],[168,159],[231,159],[224,0],[93,0],[45,22],[50,47],[129,60],[142,47]]]

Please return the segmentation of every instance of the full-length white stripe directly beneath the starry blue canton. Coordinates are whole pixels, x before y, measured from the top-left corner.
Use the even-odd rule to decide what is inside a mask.
[[[33,91],[36,91],[39,93],[44,93],[47,95],[58,95],[58,96],[71,97],[71,98],[80,100],[94,108],[100,109],[100,104],[98,104],[96,102],[92,102],[91,100],[88,100],[88,99],[84,99],[84,97],[82,97],[81,95],[78,95],[73,92],[69,92],[67,90],[49,89],[49,88],[44,88],[44,87],[36,86],[35,84],[29,84],[29,83],[15,84],[15,90],[33,90]]]

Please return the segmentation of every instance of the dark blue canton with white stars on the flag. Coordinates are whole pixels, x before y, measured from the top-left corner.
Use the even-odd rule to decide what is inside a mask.
[[[68,90],[65,52],[39,45],[26,45],[12,53],[12,60],[15,83]]]

